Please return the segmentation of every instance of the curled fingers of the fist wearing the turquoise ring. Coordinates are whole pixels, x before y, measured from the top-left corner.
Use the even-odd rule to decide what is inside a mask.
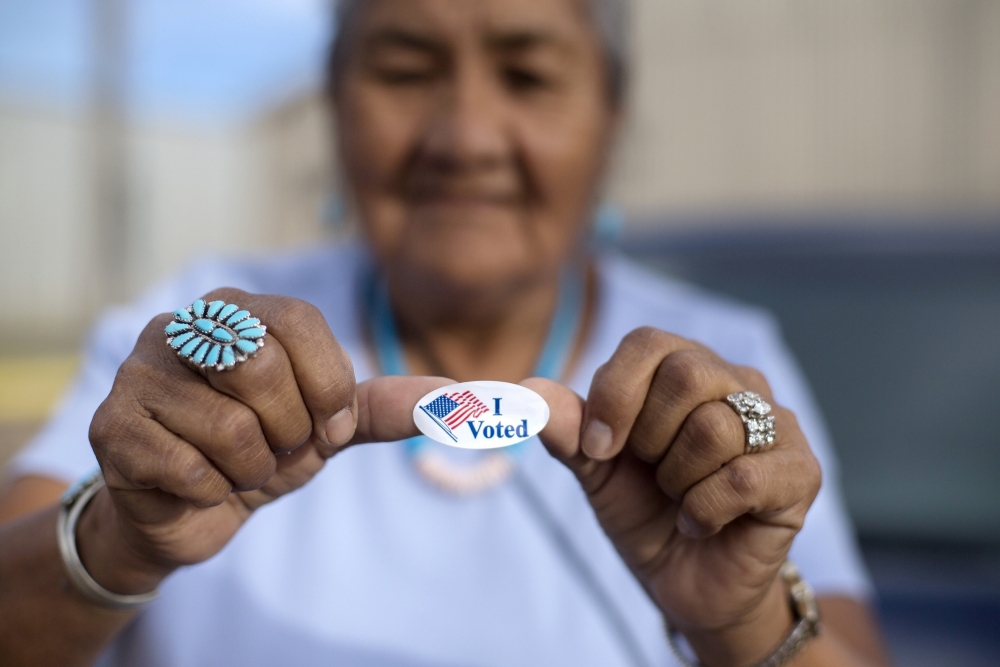
[[[206,298],[267,324],[256,357],[199,373],[163,344],[170,316],[155,318],[91,425],[108,485],[138,520],[213,507],[233,490],[252,510],[305,484],[354,434],[354,370],[316,308],[233,289]]]

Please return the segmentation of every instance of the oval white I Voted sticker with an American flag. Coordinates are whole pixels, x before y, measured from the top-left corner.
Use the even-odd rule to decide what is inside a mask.
[[[538,435],[549,421],[549,405],[518,384],[460,382],[417,401],[413,421],[424,435],[445,445],[495,449]]]

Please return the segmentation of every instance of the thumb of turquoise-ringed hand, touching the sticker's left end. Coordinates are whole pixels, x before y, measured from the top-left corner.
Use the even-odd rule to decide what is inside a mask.
[[[358,423],[346,446],[394,442],[419,435],[413,408],[425,394],[454,384],[442,377],[387,375],[358,385]]]

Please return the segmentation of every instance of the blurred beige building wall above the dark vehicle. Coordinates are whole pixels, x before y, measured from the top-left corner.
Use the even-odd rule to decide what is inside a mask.
[[[995,0],[640,0],[633,23],[633,213],[1000,210]]]

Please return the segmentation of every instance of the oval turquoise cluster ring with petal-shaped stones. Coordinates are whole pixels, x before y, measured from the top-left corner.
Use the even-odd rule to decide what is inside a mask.
[[[267,327],[235,303],[198,299],[174,311],[166,326],[167,345],[201,369],[235,368],[264,347]]]

